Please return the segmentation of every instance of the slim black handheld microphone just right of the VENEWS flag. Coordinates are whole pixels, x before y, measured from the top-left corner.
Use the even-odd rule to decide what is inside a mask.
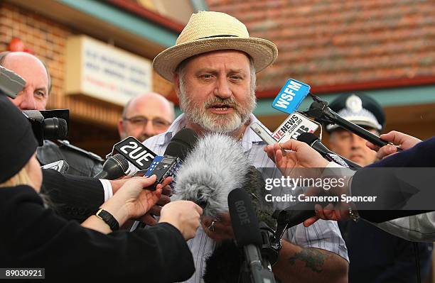
[[[326,146],[323,145],[323,143],[321,143],[319,138],[313,133],[301,133],[301,135],[299,135],[297,140],[311,146],[311,148],[315,149],[318,153],[320,153],[323,156],[323,158],[325,158],[328,161],[333,161],[338,165],[341,165],[343,167],[350,167],[355,170],[362,168],[357,163],[336,154],[335,152],[329,150],[329,148],[326,148]]]

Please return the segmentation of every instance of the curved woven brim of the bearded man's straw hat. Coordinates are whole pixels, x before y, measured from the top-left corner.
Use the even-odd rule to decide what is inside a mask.
[[[154,58],[153,68],[161,77],[172,81],[176,67],[188,57],[226,49],[246,52],[252,58],[256,72],[271,65],[278,56],[276,45],[262,38],[203,38],[163,50]]]

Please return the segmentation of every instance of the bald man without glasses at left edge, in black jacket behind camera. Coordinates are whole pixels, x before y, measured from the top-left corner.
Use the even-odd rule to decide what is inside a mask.
[[[0,65],[19,74],[26,80],[26,86],[12,103],[21,110],[45,110],[51,89],[48,69],[37,57],[26,52],[1,52]],[[95,176],[102,169],[102,158],[92,152],[70,145],[68,140],[58,140],[58,144],[45,140],[37,150],[38,161],[46,165],[65,160],[68,174]]]

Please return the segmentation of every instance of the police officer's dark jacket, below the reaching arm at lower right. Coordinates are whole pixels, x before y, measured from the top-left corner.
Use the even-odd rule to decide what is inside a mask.
[[[412,243],[391,235],[367,221],[338,222],[348,247],[349,283],[414,283],[416,252],[421,278],[431,267],[432,243]]]

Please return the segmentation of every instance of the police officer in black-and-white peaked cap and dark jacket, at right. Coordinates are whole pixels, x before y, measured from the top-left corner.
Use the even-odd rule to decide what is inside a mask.
[[[385,126],[382,106],[361,93],[342,94],[330,107],[346,120],[379,135]],[[330,133],[331,150],[343,157],[367,166],[375,162],[376,152],[366,140],[337,125],[326,125]],[[365,221],[339,222],[338,226],[348,246],[349,282],[415,282],[417,267],[414,247],[417,245],[422,278],[428,274],[431,244],[412,243],[372,226]]]

